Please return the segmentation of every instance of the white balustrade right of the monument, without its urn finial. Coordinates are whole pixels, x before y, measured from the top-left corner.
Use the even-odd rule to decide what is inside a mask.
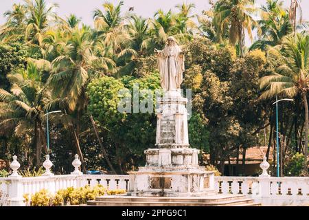
[[[308,205],[309,177],[215,177],[216,192],[247,195],[263,205]]]

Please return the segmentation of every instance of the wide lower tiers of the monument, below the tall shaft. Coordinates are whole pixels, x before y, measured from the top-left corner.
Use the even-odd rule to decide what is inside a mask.
[[[214,172],[198,166],[193,148],[148,149],[147,164],[129,172],[129,195],[203,197],[214,195]]]

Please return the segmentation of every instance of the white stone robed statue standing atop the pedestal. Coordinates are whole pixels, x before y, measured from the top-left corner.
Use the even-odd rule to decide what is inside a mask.
[[[161,77],[161,87],[164,91],[179,91],[183,83],[185,58],[175,39],[170,36],[163,50],[155,49],[158,55],[158,69]]]

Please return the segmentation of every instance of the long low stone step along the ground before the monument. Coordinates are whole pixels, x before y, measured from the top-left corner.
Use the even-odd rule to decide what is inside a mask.
[[[156,201],[88,201],[89,206],[249,206],[253,199],[237,199],[219,202],[156,202]]]

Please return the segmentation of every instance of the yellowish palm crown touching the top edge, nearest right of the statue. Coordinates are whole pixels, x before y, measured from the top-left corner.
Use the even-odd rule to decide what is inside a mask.
[[[213,23],[216,26],[218,41],[222,41],[222,35],[229,29],[229,41],[235,45],[238,43],[240,53],[244,52],[244,30],[247,30],[252,40],[252,28],[258,23],[252,14],[256,12],[254,0],[221,0],[215,4]]]

